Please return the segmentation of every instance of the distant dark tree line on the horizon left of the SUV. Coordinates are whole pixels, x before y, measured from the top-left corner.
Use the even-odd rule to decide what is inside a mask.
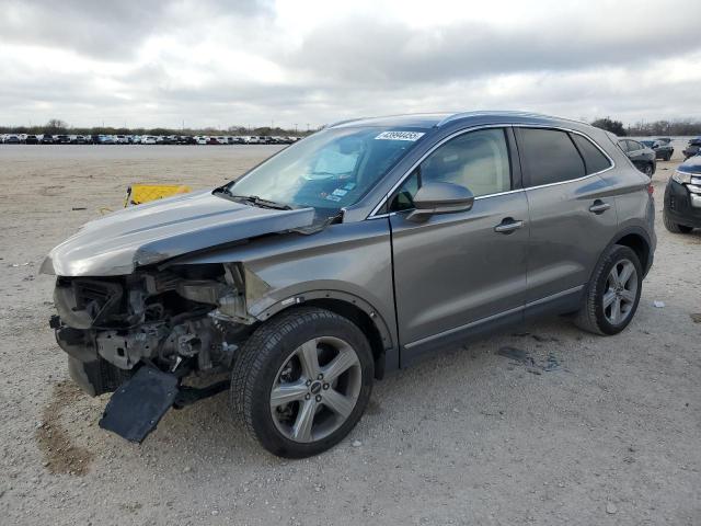
[[[219,128],[115,128],[112,126],[73,127],[58,118],[51,118],[38,126],[0,126],[0,134],[27,135],[255,135],[255,136],[306,136],[311,132],[301,132],[271,126],[246,128],[245,126],[229,126]]]

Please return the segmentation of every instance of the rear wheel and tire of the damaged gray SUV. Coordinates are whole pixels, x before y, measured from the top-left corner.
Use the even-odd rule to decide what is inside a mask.
[[[642,285],[643,268],[637,254],[614,244],[594,271],[575,324],[594,334],[618,334],[635,316]]]

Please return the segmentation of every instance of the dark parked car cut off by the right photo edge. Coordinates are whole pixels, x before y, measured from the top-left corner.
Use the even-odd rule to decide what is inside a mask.
[[[701,156],[679,164],[667,181],[663,217],[665,227],[674,233],[701,228]]]

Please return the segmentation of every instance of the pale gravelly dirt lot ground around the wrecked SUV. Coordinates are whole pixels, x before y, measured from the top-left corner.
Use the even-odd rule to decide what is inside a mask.
[[[276,149],[0,145],[0,523],[701,524],[701,232],[662,226],[675,162],[618,336],[551,320],[449,351],[379,382],[350,436],[308,460],[244,441],[223,395],[141,446],[101,431],[107,397],[67,381],[47,327],[43,256],[131,182],[211,186]]]

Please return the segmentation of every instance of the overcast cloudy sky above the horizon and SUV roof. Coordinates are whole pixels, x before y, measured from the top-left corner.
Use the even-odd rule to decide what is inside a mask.
[[[701,118],[697,0],[0,0],[0,124]]]

